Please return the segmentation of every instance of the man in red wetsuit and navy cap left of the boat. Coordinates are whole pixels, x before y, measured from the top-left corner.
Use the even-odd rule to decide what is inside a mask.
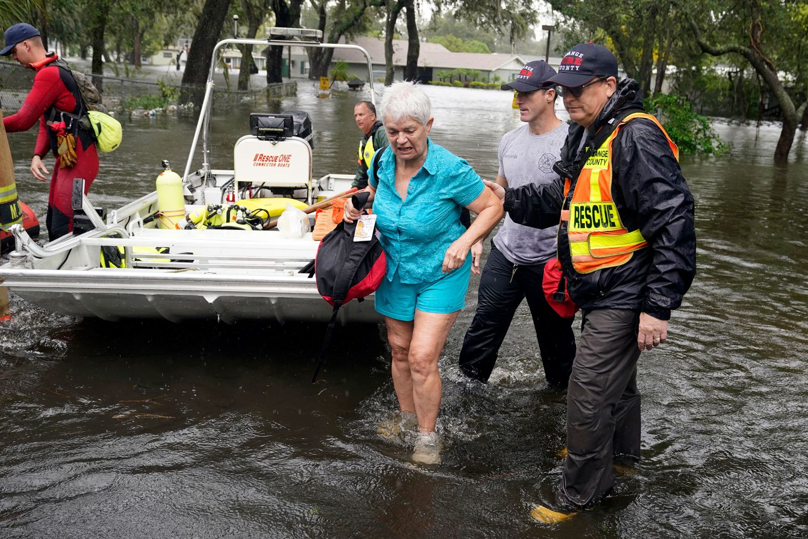
[[[95,150],[95,141],[88,131],[78,127],[78,120],[63,116],[66,112],[80,116],[85,111],[81,94],[69,70],[53,65],[57,60],[56,53],[48,53],[42,44],[40,32],[30,24],[19,23],[6,30],[6,46],[0,56],[11,55],[23,67],[36,71],[34,86],[25,98],[19,112],[2,119],[6,131],[26,131],[36,120],[40,120],[40,133],[36,137],[36,149],[31,159],[31,173],[34,178],[46,181],[47,167],[42,158],[53,150],[56,163],[53,165],[50,192],[48,194],[48,237],[51,241],[73,230],[73,206],[71,194],[73,179],[83,178],[84,192],[90,190],[95,176],[99,172],[99,157]],[[57,149],[57,124],[65,122],[63,127],[72,133],[76,140],[76,163],[74,166],[61,167],[61,157]],[[53,124],[53,127],[49,124]]]

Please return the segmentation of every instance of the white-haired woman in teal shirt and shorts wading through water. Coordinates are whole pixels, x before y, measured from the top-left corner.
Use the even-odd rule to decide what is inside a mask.
[[[431,103],[419,86],[393,83],[382,96],[381,109],[392,151],[377,152],[367,190],[387,256],[387,275],[375,302],[387,324],[400,416],[381,423],[379,433],[393,437],[417,421],[413,460],[436,464],[441,447],[435,432],[442,390],[438,358],[465,306],[469,250],[499,222],[503,209],[468,162],[430,140]],[[464,207],[478,216],[469,229],[460,221]],[[359,216],[348,202],[345,220]]]

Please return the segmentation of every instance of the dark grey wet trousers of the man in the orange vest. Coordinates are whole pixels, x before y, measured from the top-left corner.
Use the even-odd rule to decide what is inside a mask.
[[[561,507],[587,507],[612,489],[612,457],[640,457],[637,390],[639,314],[583,312],[581,340],[566,402],[567,457],[558,492]]]

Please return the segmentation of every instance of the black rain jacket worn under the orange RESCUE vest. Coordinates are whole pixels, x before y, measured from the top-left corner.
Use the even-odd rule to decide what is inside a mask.
[[[638,83],[633,79],[621,81],[590,132],[580,125],[570,127],[561,157],[563,165],[576,172],[566,200],[563,178],[509,188],[504,208],[511,219],[542,229],[558,225],[562,207],[570,207],[577,171],[583,166],[584,152],[578,151],[581,138],[586,135],[591,140],[600,128],[611,128],[609,120],[643,110]],[[621,221],[626,229],[640,229],[648,246],[635,251],[621,266],[578,273],[572,265],[567,225],[562,222],[558,227],[558,259],[570,297],[583,310],[642,310],[667,320],[696,276],[693,197],[665,135],[650,120],[638,118],[621,127],[612,141],[612,167],[612,199]]]

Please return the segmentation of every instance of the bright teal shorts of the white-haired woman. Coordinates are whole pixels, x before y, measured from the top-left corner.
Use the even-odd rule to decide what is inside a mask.
[[[465,307],[465,293],[469,289],[471,255],[465,263],[452,272],[444,273],[430,283],[406,284],[398,278],[383,279],[376,291],[376,310],[380,314],[409,322],[415,318],[415,310],[425,313],[453,313]]]

